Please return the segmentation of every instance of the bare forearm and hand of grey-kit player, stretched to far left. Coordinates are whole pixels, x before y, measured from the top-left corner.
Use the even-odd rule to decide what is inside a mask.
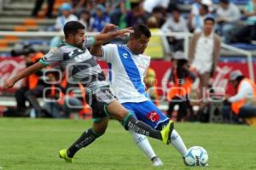
[[[20,79],[32,75],[36,71],[43,69],[46,65],[42,65],[41,63],[36,63],[27,67],[25,70],[19,72],[15,77],[10,78],[3,84],[3,88],[12,88],[15,85],[15,82],[18,82]]]

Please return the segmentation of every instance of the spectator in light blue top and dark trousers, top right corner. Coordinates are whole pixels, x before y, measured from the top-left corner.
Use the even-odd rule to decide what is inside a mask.
[[[256,0],[248,1],[245,8],[246,26],[235,32],[232,42],[251,43],[256,41]]]

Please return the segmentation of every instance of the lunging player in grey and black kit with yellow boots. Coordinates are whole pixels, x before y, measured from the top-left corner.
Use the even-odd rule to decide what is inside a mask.
[[[61,150],[59,152],[60,157],[67,162],[73,162],[73,156],[77,151],[91,144],[105,133],[109,116],[122,122],[126,130],[141,133],[169,144],[171,142],[173,123],[168,123],[167,127],[160,131],[155,130],[144,122],[138,121],[132,116],[113,97],[101,67],[87,49],[88,45],[108,42],[114,37],[124,36],[125,33],[132,32],[132,29],[126,28],[120,31],[100,34],[87,39],[87,41],[85,41],[84,37],[84,26],[78,21],[67,22],[63,31],[65,42],[61,42],[57,48],[51,49],[48,54],[44,55],[44,59],[20,71],[15,77],[11,77],[3,84],[3,88],[11,88],[21,78],[27,77],[47,65],[61,65],[63,69],[67,69],[68,77],[83,84],[87,92],[85,99],[92,108],[93,124],[67,150]]]

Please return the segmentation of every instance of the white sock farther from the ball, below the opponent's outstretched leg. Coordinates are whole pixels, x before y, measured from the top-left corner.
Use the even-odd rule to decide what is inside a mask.
[[[133,137],[133,141],[135,144],[137,144],[137,147],[143,151],[143,153],[148,156],[148,158],[151,160],[153,157],[155,157],[154,150],[149,144],[149,141],[146,136],[138,133],[134,133],[129,131]]]

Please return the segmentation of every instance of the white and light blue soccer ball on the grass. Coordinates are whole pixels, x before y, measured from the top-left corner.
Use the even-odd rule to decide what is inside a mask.
[[[184,159],[188,166],[202,166],[205,167],[208,161],[207,150],[201,146],[193,146],[189,148]]]

